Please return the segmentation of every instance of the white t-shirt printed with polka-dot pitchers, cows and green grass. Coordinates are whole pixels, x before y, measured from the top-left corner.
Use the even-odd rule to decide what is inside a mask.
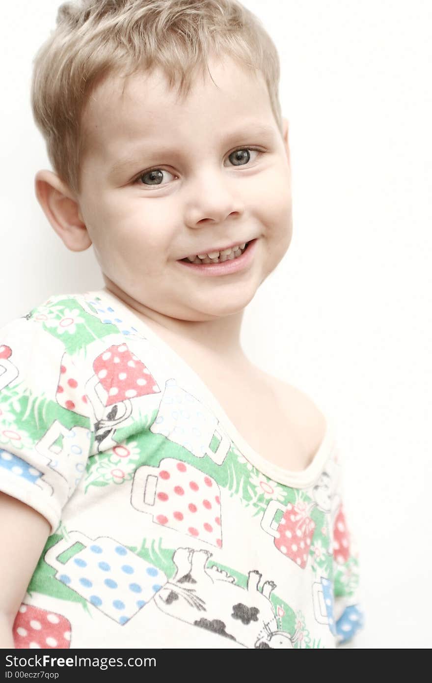
[[[313,462],[276,466],[117,297],[52,296],[0,331],[0,490],[51,525],[15,646],[354,642],[341,471],[327,415]]]

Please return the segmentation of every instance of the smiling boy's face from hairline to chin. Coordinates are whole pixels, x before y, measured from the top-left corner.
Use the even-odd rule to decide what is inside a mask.
[[[182,101],[158,71],[130,77],[124,96],[110,78],[85,112],[76,199],[105,283],[179,320],[242,310],[291,241],[287,122],[283,139],[261,74],[231,60],[209,68],[214,82],[200,77]],[[179,262],[254,239],[248,266],[229,275]]]

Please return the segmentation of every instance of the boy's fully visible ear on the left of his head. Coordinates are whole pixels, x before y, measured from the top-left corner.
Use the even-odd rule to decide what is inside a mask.
[[[78,201],[56,173],[36,173],[35,195],[46,218],[70,251],[84,251],[90,247],[91,239]]]

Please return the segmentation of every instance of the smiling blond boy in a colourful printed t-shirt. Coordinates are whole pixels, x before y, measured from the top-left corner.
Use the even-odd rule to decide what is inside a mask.
[[[362,626],[330,423],[240,346],[291,240],[278,69],[232,0],[59,9],[35,191],[105,288],[1,331],[2,647],[335,647]]]

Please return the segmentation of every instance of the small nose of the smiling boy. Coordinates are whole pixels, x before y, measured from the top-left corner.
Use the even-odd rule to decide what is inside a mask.
[[[206,169],[190,181],[184,222],[188,227],[202,227],[205,223],[223,223],[227,217],[240,216],[244,203],[233,178],[224,169]]]

